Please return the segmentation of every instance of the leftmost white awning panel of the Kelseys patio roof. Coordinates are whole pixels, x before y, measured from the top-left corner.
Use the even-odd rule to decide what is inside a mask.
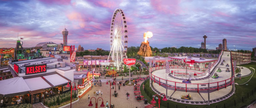
[[[0,94],[7,95],[30,91],[28,85],[22,77],[15,77],[0,81]]]

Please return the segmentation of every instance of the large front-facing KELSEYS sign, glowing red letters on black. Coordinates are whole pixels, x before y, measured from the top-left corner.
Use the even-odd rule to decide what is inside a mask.
[[[46,72],[46,64],[26,66],[26,75]]]

